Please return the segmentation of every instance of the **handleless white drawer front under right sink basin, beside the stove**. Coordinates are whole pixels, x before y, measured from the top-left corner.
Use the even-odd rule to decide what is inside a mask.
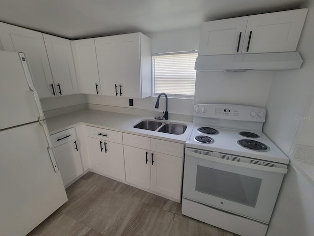
[[[157,151],[182,158],[184,145],[159,139],[151,139],[151,150],[152,152]]]

